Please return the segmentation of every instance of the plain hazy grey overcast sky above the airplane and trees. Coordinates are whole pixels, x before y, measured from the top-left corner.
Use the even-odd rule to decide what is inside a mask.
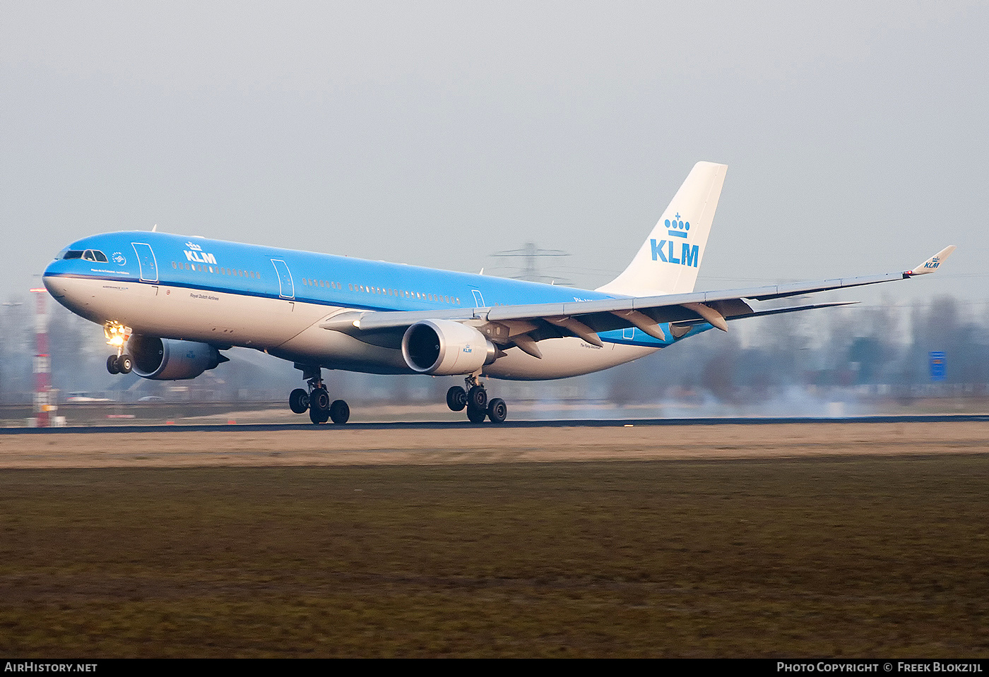
[[[532,240],[593,287],[710,160],[699,286],[953,243],[942,279],[884,292],[982,301],[986,36],[989,3],[949,0],[6,0],[0,294],[155,223],[471,272]]]

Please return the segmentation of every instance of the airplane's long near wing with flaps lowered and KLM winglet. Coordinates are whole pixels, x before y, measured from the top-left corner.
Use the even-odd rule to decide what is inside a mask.
[[[344,311],[319,324],[324,329],[360,334],[404,329],[415,322],[427,319],[450,319],[470,322],[490,338],[510,339],[522,350],[534,349],[534,343],[545,338],[579,336],[587,343],[601,345],[598,332],[637,327],[660,340],[668,340],[662,324],[671,327],[687,327],[710,322],[723,331],[728,330],[726,320],[753,317],[781,312],[809,310],[811,308],[845,305],[844,302],[818,303],[784,308],[753,310],[748,300],[770,300],[828,292],[850,287],[876,285],[894,280],[906,280],[918,275],[935,272],[944,259],[954,251],[945,247],[916,268],[902,273],[887,273],[857,278],[838,278],[816,282],[798,282],[785,285],[769,285],[718,292],[690,292],[662,296],[623,296],[594,300],[575,300],[562,303],[534,303],[528,305],[497,305],[479,308],[453,308],[415,311]],[[500,325],[506,331],[486,331],[489,326]],[[675,333],[681,336],[682,333]]]

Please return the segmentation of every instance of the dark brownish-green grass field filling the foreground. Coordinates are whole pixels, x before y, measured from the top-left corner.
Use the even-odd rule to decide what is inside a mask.
[[[5,469],[18,656],[989,656],[989,455]]]

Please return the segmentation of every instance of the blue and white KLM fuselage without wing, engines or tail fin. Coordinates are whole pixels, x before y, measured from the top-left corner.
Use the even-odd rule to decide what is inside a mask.
[[[97,256],[106,262],[94,260]],[[357,337],[319,324],[344,311],[415,312],[470,322],[489,307],[615,297],[146,231],[105,233],[73,242],[45,270],[45,286],[73,312],[100,324],[120,322],[135,334],[256,348],[300,364],[375,374],[416,373],[403,359],[401,335]],[[691,333],[707,328],[705,323]],[[541,341],[541,359],[507,350],[485,374],[522,380],[587,374],[678,340],[670,335],[661,341],[634,327],[598,336],[603,347],[575,337]]]

